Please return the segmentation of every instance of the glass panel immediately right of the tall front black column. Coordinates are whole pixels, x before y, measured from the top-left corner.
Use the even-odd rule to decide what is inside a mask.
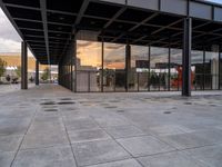
[[[193,72],[193,87],[194,90],[202,90],[203,89],[203,81],[204,81],[204,68],[203,68],[203,51],[192,50],[191,52],[191,70]]]

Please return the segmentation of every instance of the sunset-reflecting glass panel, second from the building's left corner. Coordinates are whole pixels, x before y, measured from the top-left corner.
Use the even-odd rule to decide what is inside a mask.
[[[103,90],[125,91],[125,46],[104,43]]]

